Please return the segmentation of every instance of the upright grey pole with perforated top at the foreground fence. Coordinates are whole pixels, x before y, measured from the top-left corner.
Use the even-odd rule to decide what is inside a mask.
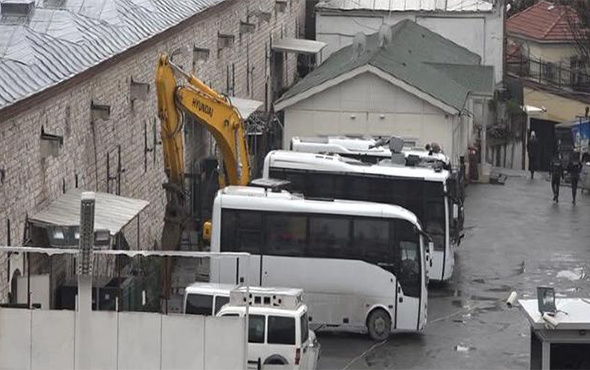
[[[80,208],[78,244],[78,307],[76,312],[76,369],[92,368],[92,262],[94,248],[93,192],[83,192]]]

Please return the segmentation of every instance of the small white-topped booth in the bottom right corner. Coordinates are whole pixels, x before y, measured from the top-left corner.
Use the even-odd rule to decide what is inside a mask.
[[[531,324],[531,369],[590,369],[590,299],[556,299],[549,320],[538,300],[518,302]]]

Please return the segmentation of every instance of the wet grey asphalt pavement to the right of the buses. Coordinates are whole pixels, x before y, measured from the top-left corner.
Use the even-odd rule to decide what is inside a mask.
[[[506,173],[506,171],[504,171]],[[552,202],[546,174],[507,173],[506,185],[467,188],[466,236],[453,278],[429,288],[427,329],[370,342],[364,334],[320,331],[320,369],[528,369],[529,325],[505,300],[590,296],[590,195]]]

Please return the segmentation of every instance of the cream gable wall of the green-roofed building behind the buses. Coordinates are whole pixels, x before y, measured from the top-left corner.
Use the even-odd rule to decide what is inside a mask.
[[[468,130],[460,117],[364,73],[287,107],[283,145],[293,136],[399,135],[420,145],[437,142],[457,162]]]

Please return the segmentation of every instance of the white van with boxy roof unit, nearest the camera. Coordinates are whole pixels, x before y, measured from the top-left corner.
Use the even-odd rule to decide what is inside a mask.
[[[302,295],[301,289],[250,287],[248,297],[246,287],[239,287],[217,316],[243,317],[249,301],[249,363],[315,369],[320,347]]]

